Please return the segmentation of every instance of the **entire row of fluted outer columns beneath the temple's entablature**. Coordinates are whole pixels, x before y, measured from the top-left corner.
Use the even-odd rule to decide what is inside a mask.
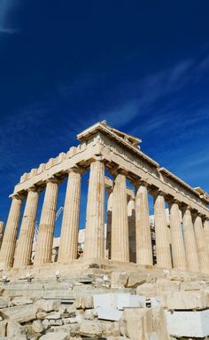
[[[69,263],[77,258],[78,228],[81,199],[80,169],[69,170],[66,186],[66,200],[61,226],[58,262]],[[35,263],[50,263],[53,244],[54,225],[58,200],[58,179],[50,178],[46,184],[43,210],[39,233],[36,241]],[[148,188],[146,183],[135,183],[135,249],[136,263],[152,265],[151,227],[149,219]],[[22,198],[14,196],[9,213],[4,240],[0,251],[0,264],[4,266],[24,267],[30,265],[35,217],[39,192],[32,188],[27,193],[27,202],[22,218],[19,241],[16,246]],[[164,268],[208,271],[208,252],[202,218],[197,215],[194,224],[190,207],[184,210],[182,224],[178,202],[170,204],[170,247],[166,223],[165,197],[161,192],[154,194],[154,219],[156,237],[157,265]],[[205,230],[208,230],[205,221]],[[209,239],[209,232],[208,239]],[[89,193],[85,242],[85,258],[104,258],[104,162],[90,164]],[[128,201],[126,173],[118,171],[112,188],[112,231],[111,258],[115,261],[129,262],[128,241]]]

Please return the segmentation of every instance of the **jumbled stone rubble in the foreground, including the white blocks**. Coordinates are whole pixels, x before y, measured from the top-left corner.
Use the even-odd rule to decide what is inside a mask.
[[[58,298],[34,297],[34,292],[9,297],[10,289],[5,288],[0,297],[0,339],[171,340],[170,335],[175,340],[188,335],[193,340],[192,336],[209,335],[207,281],[182,281],[181,275],[180,281],[178,273],[172,273],[171,280],[161,273],[134,273],[132,277],[132,273],[123,272],[122,278],[128,277],[132,288],[121,289],[119,281],[114,289],[74,284],[75,298],[63,303]],[[121,276],[117,272],[112,278]],[[95,279],[92,274],[92,282],[98,281],[99,275]],[[62,284],[60,279],[57,287],[63,289]],[[139,295],[141,292],[145,294]]]

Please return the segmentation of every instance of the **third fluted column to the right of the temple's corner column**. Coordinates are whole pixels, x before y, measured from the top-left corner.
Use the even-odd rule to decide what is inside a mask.
[[[165,199],[162,193],[154,197],[154,221],[156,238],[157,265],[163,268],[171,268],[171,251],[168,240]]]

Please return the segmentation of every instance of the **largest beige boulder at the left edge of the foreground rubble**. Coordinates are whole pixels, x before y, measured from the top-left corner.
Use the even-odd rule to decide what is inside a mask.
[[[4,319],[11,319],[20,323],[36,319],[34,304],[23,304],[4,308],[1,310],[1,312],[4,316]]]

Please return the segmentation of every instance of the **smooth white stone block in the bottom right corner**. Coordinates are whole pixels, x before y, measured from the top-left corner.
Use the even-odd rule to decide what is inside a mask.
[[[166,311],[168,332],[171,336],[202,338],[209,336],[209,310],[196,312]]]

